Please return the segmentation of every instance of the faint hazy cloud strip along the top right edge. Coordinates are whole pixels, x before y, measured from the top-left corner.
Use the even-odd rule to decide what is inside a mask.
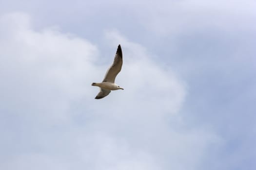
[[[145,29],[158,36],[171,35],[169,38],[173,38],[209,29],[232,34],[236,30],[254,30],[256,26],[255,0],[163,0],[145,3],[133,7],[133,13]]]

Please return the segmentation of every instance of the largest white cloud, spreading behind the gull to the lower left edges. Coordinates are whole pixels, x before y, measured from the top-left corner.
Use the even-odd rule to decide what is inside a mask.
[[[8,122],[0,148],[10,146],[1,169],[193,170],[219,142],[207,129],[168,123],[182,121],[185,85],[117,31],[106,31],[113,56],[98,65],[96,45],[76,35],[35,31],[22,13],[0,24],[0,115]],[[116,81],[125,90],[94,100],[91,83],[101,81],[119,43]]]

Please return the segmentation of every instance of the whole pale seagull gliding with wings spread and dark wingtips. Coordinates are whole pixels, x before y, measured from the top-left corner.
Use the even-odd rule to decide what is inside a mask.
[[[122,49],[119,44],[114,62],[110,66],[110,68],[108,68],[103,81],[101,83],[92,83],[93,86],[100,87],[100,91],[98,95],[95,97],[95,99],[102,99],[103,97],[106,97],[111,92],[111,90],[118,90],[118,89],[123,90],[123,88],[115,84],[115,79],[118,73],[121,71],[122,64],[123,64]]]

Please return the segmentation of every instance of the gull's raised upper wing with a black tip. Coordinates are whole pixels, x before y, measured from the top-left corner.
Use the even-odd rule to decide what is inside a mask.
[[[120,44],[118,45],[118,50],[112,66],[107,70],[105,77],[102,82],[115,83],[116,76],[120,72],[123,64],[122,49]]]

